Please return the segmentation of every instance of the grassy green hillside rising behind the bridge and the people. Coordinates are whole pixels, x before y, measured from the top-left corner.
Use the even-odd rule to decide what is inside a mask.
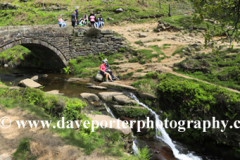
[[[158,18],[168,14],[169,4],[172,5],[172,13],[188,14],[191,12],[189,10],[191,3],[187,3],[187,0],[185,0],[186,2],[183,0],[164,0],[161,1],[161,4],[157,0],[145,0],[145,2],[139,0],[24,1],[26,2],[22,0],[0,1],[0,26],[57,24],[59,15],[62,15],[65,21],[69,21],[70,15],[76,7],[79,7],[80,16],[93,11],[96,14],[101,14],[107,23],[118,23],[123,20],[135,21],[148,17]],[[122,8],[122,12],[117,13],[116,9],[119,8]]]

